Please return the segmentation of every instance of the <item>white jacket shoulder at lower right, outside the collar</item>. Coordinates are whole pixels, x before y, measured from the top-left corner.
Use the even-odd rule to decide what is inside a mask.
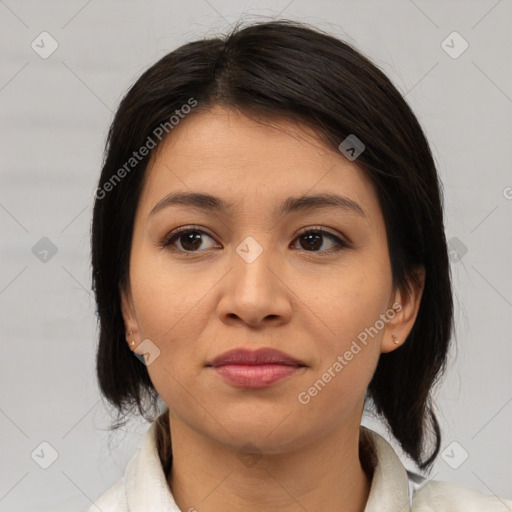
[[[430,480],[414,493],[413,512],[512,512],[512,501],[461,485]]]

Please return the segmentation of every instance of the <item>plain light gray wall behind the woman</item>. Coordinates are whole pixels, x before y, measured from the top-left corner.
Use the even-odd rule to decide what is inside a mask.
[[[86,509],[147,428],[135,420],[109,438],[95,380],[89,226],[103,144],[143,69],[240,17],[305,21],[355,44],[425,127],[444,183],[457,325],[438,394],[446,451],[431,476],[512,497],[510,0],[5,0],[0,510]],[[58,43],[47,58],[43,31]],[[458,36],[442,44],[453,31],[469,44],[457,58]],[[56,254],[41,252],[43,237]]]

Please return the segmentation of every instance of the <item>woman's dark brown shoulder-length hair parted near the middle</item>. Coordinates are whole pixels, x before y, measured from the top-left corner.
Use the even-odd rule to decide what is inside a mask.
[[[156,149],[135,163],[130,159],[150,139],[158,147],[159,127],[171,133],[172,116],[193,102],[188,115],[223,105],[302,123],[336,149],[351,134],[364,143],[355,163],[378,193],[394,286],[407,291],[414,270],[426,270],[412,331],[400,348],[381,355],[368,398],[404,451],[420,468],[429,468],[441,440],[432,388],[444,370],[453,329],[436,166],[416,116],[386,75],[351,45],[299,22],[237,26],[227,36],[185,44],[147,69],[121,101],[108,134],[91,227],[103,396],[121,415],[135,406],[144,414],[144,393],[153,405],[158,399],[145,365],[127,346],[119,294],[129,282],[135,211]]]

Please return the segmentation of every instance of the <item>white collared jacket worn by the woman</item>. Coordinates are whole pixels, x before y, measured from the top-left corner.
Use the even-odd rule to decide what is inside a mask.
[[[361,427],[375,447],[370,495],[365,512],[512,512],[512,501],[488,496],[457,484],[414,478],[391,445]],[[167,485],[156,447],[155,423],[129,461],[124,476],[87,512],[193,512],[180,510]]]

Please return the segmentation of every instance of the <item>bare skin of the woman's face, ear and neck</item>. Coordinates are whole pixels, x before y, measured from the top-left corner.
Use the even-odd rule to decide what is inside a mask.
[[[216,106],[181,121],[152,156],[137,207],[126,331],[160,354],[147,369],[170,411],[169,487],[181,510],[309,512],[365,508],[371,482],[358,453],[367,387],[379,356],[406,339],[424,287],[392,286],[384,219],[373,185],[311,129]],[[202,211],[171,192],[236,205]],[[289,197],[336,193],[356,202],[274,216]],[[165,247],[176,228],[200,229]],[[302,228],[323,228],[308,241]],[[197,236],[197,235],[196,235]],[[252,237],[248,263],[237,247]],[[299,402],[393,304],[401,309],[310,402]],[[147,344],[147,342],[146,342]],[[205,365],[233,348],[272,347],[306,367],[262,389],[223,381]],[[138,351],[142,353],[142,350]],[[252,459],[240,452],[252,447]],[[246,446],[245,449],[241,449]]]

